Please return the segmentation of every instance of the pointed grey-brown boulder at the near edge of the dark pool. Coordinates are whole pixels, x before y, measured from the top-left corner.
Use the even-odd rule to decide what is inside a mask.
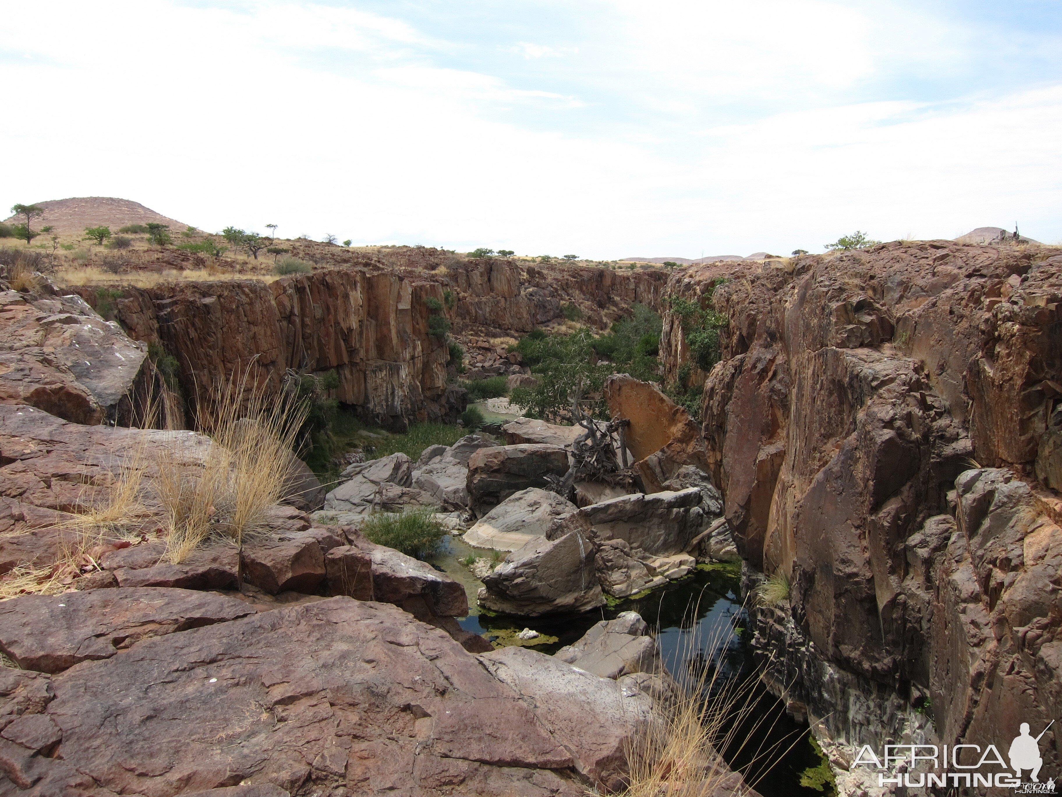
[[[579,528],[555,540],[535,538],[483,578],[479,603],[493,611],[532,617],[602,606],[594,543]]]

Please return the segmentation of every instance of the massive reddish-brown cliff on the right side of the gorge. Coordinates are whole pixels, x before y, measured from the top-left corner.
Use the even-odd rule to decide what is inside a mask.
[[[851,690],[931,695],[948,743],[1057,715],[1062,253],[893,243],[730,276],[703,434],[743,556],[792,584],[791,627],[761,630],[806,660],[775,681],[841,711],[827,725],[846,737],[889,723],[825,705],[824,665]],[[674,373],[682,328],[665,327]]]

